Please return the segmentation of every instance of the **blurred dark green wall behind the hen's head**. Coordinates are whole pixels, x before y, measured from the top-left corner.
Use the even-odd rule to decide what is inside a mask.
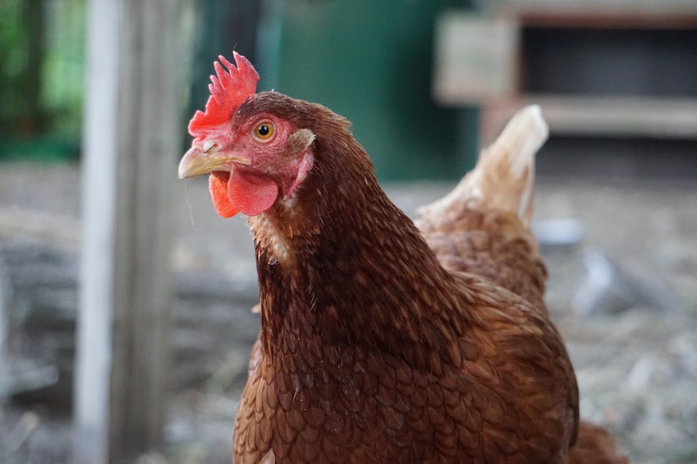
[[[472,165],[475,111],[444,109],[431,99],[434,19],[462,1],[278,6],[262,20],[260,90],[274,88],[346,116],[381,179],[450,179]]]

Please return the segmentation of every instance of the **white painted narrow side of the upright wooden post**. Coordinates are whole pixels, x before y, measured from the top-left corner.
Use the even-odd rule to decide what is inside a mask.
[[[108,462],[121,0],[88,2],[75,463]]]

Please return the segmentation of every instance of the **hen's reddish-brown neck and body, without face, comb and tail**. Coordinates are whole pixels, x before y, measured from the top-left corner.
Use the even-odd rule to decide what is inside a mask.
[[[316,134],[314,167],[292,200],[250,218],[261,353],[236,462],[561,462],[577,392],[549,321],[443,269],[343,120],[277,94],[250,105],[267,99],[305,113],[293,125]]]

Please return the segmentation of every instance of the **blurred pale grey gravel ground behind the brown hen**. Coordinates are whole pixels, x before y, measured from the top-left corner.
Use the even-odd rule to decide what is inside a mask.
[[[256,280],[249,232],[241,218],[215,215],[203,181],[182,182],[174,199],[178,349],[167,449],[142,463],[229,462],[236,400],[258,328],[249,311]],[[0,164],[0,250],[11,264],[3,269],[0,259],[0,296],[3,289],[21,294],[21,285],[12,288],[19,269],[45,259],[67,269],[59,274],[72,274],[61,287],[70,311],[79,186],[77,166]],[[448,187],[386,189],[411,214]],[[572,242],[543,251],[547,301],[576,367],[581,414],[608,427],[634,463],[697,462],[696,199],[694,184],[537,182],[539,234],[557,230],[554,238]],[[566,219],[573,221],[559,221]],[[0,464],[68,463],[70,440],[65,408],[0,404]]]

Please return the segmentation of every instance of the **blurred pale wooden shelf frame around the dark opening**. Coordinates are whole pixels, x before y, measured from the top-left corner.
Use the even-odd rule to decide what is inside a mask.
[[[483,144],[491,143],[518,109],[533,103],[542,107],[551,134],[697,140],[696,95],[553,95],[521,88],[526,27],[697,29],[697,3],[668,1],[661,8],[636,3],[499,0],[483,15],[446,12],[436,26],[434,98],[447,106],[480,107]]]

